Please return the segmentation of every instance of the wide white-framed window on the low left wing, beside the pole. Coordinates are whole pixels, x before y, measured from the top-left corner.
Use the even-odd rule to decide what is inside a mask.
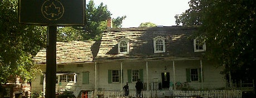
[[[76,80],[75,73],[60,74],[57,77],[60,77],[59,82],[75,82]]]

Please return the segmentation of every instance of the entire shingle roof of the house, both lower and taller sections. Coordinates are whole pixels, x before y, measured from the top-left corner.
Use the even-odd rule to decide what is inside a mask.
[[[110,28],[102,40],[57,42],[57,63],[92,62],[105,60],[158,60],[204,58],[205,52],[194,52],[190,38],[197,27],[136,27]],[[165,38],[165,52],[154,53],[154,38]],[[129,53],[118,53],[118,41],[129,41]],[[46,63],[46,49],[33,58]]]

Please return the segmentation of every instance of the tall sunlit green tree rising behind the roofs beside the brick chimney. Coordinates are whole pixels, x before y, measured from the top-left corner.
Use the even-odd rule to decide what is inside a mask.
[[[96,8],[94,1],[90,0],[85,8],[85,26],[74,27],[76,30],[81,31],[80,35],[83,40],[100,40],[102,32],[107,28],[107,18],[111,16],[108,11],[107,5],[103,3]],[[113,19],[113,27],[122,27],[122,21],[126,16],[117,17]]]

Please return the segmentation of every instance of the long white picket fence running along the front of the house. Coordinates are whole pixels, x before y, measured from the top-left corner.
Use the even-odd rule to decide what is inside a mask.
[[[241,90],[207,90],[207,91],[179,91],[173,90],[170,96],[155,96],[156,91],[143,91],[144,98],[149,97],[176,97],[176,98],[191,98],[200,96],[204,98],[241,98]],[[124,97],[124,91],[96,91],[95,97],[117,98]],[[136,97],[136,91],[130,91],[129,96]]]

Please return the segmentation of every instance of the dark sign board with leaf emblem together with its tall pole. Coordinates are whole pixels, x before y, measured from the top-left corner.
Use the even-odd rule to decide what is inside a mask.
[[[46,98],[56,94],[57,26],[84,26],[85,0],[19,0],[18,21],[47,26]]]

